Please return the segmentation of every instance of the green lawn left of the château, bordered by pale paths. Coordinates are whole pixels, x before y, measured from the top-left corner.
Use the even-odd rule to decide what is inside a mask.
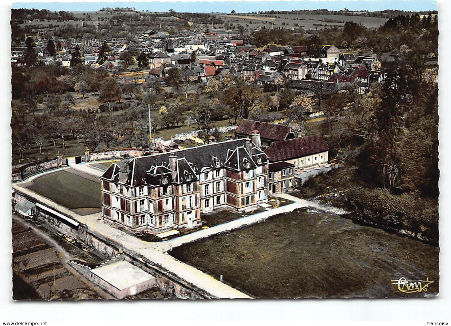
[[[78,174],[81,174],[78,172]],[[84,178],[80,175],[57,171],[44,174],[27,184],[27,188],[37,194],[47,197],[56,203],[74,210],[79,214],[83,212],[100,212],[101,191],[100,183]]]

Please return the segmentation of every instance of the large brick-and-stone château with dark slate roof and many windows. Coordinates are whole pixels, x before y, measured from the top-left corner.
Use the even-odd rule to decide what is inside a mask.
[[[131,231],[190,228],[201,213],[266,202],[267,173],[267,156],[249,138],[122,159],[101,176],[102,218]]]

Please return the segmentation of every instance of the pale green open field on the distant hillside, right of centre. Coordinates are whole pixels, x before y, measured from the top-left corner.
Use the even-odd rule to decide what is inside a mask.
[[[345,22],[353,21],[362,23],[368,28],[377,28],[383,25],[387,19],[379,17],[361,17],[345,15],[309,15],[309,14],[268,14],[268,15],[220,15],[226,23],[249,25],[248,28],[256,29],[265,26],[284,28],[303,28],[304,30],[322,29],[325,27],[343,27]]]

